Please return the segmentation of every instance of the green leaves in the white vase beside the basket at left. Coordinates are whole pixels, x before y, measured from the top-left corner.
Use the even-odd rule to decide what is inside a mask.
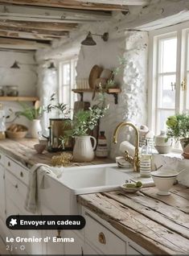
[[[43,113],[43,108],[40,106],[39,101],[35,101],[35,106],[31,107],[27,105],[26,103],[20,102],[20,105],[23,106],[23,111],[17,111],[15,112],[16,117],[23,116],[27,118],[30,121],[33,121],[34,119],[39,119]]]

